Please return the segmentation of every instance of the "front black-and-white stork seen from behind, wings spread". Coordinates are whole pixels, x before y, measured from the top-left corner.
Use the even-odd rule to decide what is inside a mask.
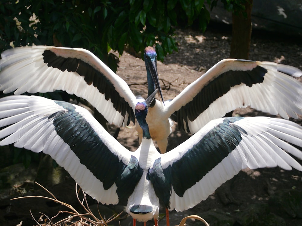
[[[127,200],[138,221],[155,220],[159,200],[169,210],[192,208],[241,169],[279,166],[302,171],[302,127],[269,117],[210,121],[184,143],[157,152],[146,115],[155,93],[135,107],[143,140],[129,152],[96,119],[77,105],[40,96],[0,99],[0,145],[14,143],[49,154],[97,201]],[[290,144],[291,143],[291,144]],[[289,155],[289,154],[291,155]]]

